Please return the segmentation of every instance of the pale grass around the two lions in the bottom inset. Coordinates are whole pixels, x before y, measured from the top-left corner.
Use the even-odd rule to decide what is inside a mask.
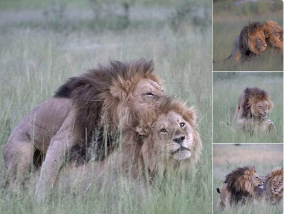
[[[213,144],[213,214],[281,214],[282,205],[268,205],[264,202],[246,203],[233,207],[231,211],[217,208],[225,176],[238,167],[255,166],[258,175],[266,176],[275,167],[283,167],[283,144]]]

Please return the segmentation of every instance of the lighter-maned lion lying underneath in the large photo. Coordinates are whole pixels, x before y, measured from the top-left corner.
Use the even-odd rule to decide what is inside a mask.
[[[141,113],[137,126],[128,128],[108,157],[79,165],[70,162],[60,171],[57,185],[86,192],[92,183],[99,188],[104,182],[117,184],[121,173],[140,192],[159,175],[191,170],[202,150],[194,108],[165,99],[157,112]]]

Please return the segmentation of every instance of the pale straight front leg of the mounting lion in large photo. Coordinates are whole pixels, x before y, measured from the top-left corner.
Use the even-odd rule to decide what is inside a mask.
[[[77,143],[73,136],[74,122],[75,112],[70,111],[59,131],[51,140],[45,160],[42,163],[40,178],[36,186],[35,196],[37,202],[42,202],[46,194],[51,191],[67,151]]]

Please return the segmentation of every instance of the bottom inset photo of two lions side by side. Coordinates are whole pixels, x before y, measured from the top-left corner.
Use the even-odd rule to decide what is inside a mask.
[[[213,144],[213,214],[283,213],[283,144]]]

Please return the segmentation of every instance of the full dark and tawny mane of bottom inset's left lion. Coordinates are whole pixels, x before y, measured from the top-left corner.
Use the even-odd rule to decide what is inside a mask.
[[[238,204],[244,198],[252,197],[254,194],[253,174],[256,173],[255,167],[239,167],[226,175],[224,183],[230,192],[230,203]]]

